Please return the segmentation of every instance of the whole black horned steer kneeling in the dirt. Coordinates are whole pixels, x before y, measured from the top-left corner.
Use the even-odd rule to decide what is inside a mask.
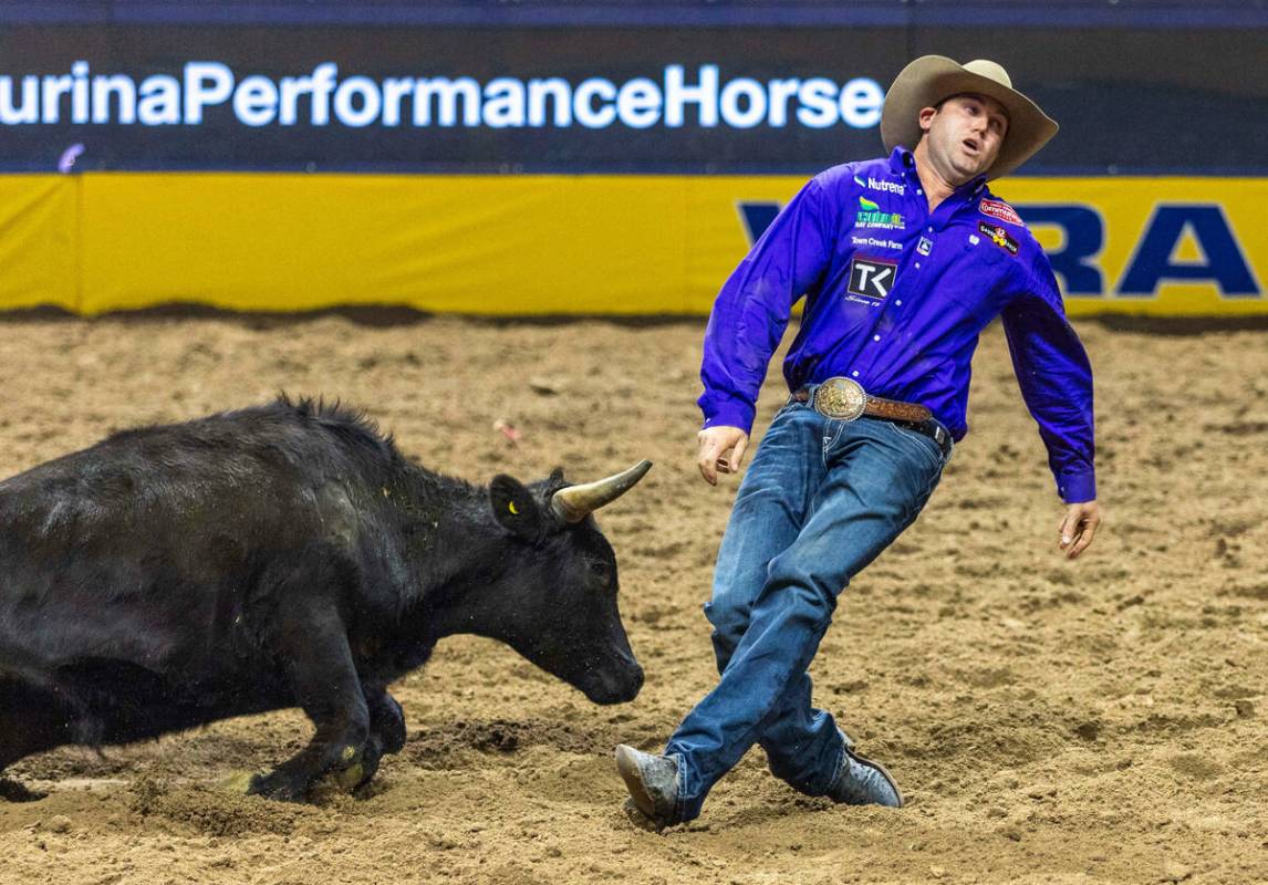
[[[312,401],[132,430],[0,483],[0,772],[299,706],[316,734],[250,790],[366,784],[404,743],[385,687],[441,636],[510,644],[597,704],[643,685],[586,486],[411,465]],[[14,781],[0,795],[25,798]]]

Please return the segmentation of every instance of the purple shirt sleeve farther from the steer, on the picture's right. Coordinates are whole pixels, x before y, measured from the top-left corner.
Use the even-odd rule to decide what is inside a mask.
[[[1056,278],[1040,251],[1027,292],[1002,312],[1022,398],[1047,446],[1056,491],[1066,503],[1097,497],[1092,365],[1065,318]]]

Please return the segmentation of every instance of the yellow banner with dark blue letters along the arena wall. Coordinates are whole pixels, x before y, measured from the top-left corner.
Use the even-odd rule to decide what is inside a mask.
[[[787,176],[0,176],[0,309],[701,314]],[[1264,313],[1268,179],[997,183],[1071,314]]]

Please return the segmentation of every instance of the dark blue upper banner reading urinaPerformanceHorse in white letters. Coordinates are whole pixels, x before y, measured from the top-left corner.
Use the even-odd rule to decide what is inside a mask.
[[[1122,5],[3,3],[0,170],[806,174],[941,53],[1061,123],[1025,174],[1264,174],[1263,4]]]

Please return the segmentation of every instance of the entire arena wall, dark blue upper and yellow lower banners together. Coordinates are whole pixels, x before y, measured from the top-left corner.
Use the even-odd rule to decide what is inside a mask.
[[[995,190],[1070,313],[1262,313],[1265,33],[1232,0],[3,4],[0,309],[704,313],[942,53],[1061,122]]]

